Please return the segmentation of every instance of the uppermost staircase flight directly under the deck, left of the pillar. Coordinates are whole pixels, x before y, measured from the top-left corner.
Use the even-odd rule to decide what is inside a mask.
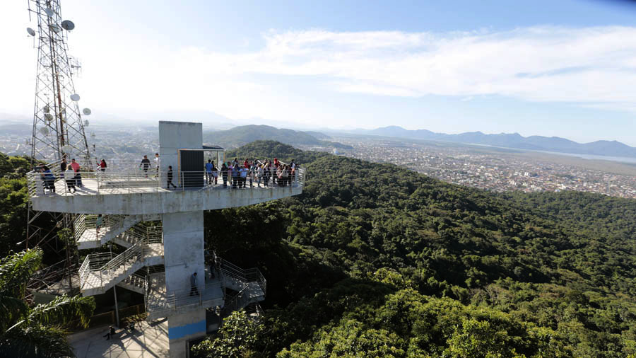
[[[86,250],[91,248],[99,248],[105,243],[119,238],[131,227],[140,221],[158,220],[158,215],[105,215],[102,216],[102,225],[100,231],[97,231],[96,221],[97,215],[81,214],[73,220],[73,228],[77,248]],[[119,242],[126,242],[120,240]],[[128,241],[129,242],[129,241]],[[118,243],[119,244],[119,243]],[[124,245],[126,247],[131,246]]]

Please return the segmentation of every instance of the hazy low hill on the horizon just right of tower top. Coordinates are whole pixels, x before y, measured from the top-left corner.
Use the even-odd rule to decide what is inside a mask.
[[[205,131],[204,143],[216,144],[226,149],[245,145],[256,140],[273,140],[292,146],[329,146],[351,149],[351,146],[329,142],[326,134],[320,132],[302,132],[292,129],[278,129],[269,125],[243,125],[228,130]]]

